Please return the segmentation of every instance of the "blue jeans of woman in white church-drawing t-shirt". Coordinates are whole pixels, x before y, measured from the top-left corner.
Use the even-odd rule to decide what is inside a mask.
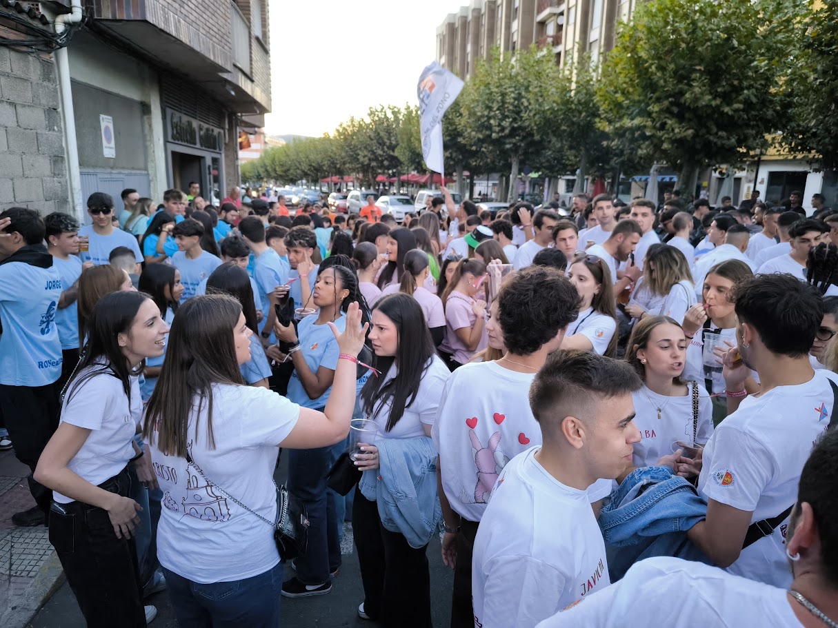
[[[277,628],[282,563],[264,574],[198,584],[163,568],[179,628]]]

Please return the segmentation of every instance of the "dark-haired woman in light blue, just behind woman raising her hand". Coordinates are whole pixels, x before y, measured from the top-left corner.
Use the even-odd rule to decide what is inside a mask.
[[[267,363],[265,349],[259,342],[256,306],[253,304],[253,287],[250,275],[235,262],[226,262],[213,270],[207,280],[207,294],[226,294],[241,304],[241,313],[245,317],[247,328],[253,332],[250,337],[251,359],[241,364],[241,377],[251,386],[269,388],[267,380],[271,377],[271,365]]]

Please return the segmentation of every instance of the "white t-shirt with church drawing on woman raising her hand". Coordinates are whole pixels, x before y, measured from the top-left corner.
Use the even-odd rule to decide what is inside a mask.
[[[300,408],[268,389],[215,384],[207,442],[207,404],[189,414],[188,448],[208,484],[184,458],[163,456],[149,438],[161,500],[158,558],[166,569],[201,584],[264,574],[279,562],[272,526],[218,492],[220,486],[268,521],[277,518],[273,471],[277,445],[291,433]],[[197,430],[196,430],[197,425]]]

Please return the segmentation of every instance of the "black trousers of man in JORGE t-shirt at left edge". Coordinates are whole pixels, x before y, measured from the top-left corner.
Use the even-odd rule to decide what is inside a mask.
[[[55,383],[46,386],[6,386],[0,384],[0,409],[6,421],[14,455],[34,471],[41,452],[58,427],[59,390]],[[49,514],[52,491],[28,476],[29,491],[38,507]]]

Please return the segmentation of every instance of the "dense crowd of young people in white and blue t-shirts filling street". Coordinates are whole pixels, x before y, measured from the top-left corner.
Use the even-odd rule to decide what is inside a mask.
[[[437,535],[456,628],[836,625],[823,203],[122,204],[0,214],[13,522],[49,525],[88,625],[165,589],[182,626],[277,626],[347,575],[347,521],[385,626],[432,625]]]

